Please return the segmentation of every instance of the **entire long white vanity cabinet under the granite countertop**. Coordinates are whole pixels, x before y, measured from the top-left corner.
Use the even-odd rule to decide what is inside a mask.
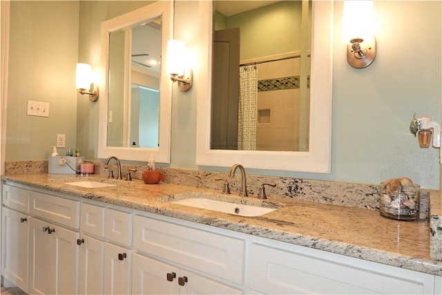
[[[9,182],[1,213],[1,274],[28,294],[442,292],[441,276]]]

